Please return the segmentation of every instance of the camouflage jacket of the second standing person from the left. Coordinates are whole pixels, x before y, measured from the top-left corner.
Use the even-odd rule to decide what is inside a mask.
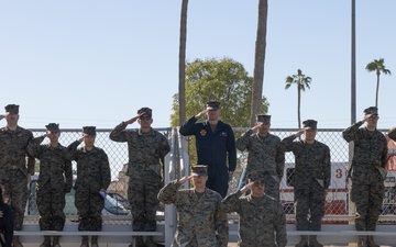
[[[28,153],[40,159],[38,188],[63,188],[69,192],[73,186],[72,154],[66,147],[58,144],[52,147],[42,144],[45,136],[34,138],[28,146]]]

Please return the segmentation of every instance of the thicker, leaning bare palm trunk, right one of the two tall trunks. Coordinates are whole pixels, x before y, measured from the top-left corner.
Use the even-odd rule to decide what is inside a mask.
[[[261,112],[263,106],[263,80],[264,80],[264,60],[266,46],[266,24],[268,16],[268,0],[258,0],[258,20],[257,35],[254,55],[254,75],[251,105],[251,126],[255,123],[255,114]]]

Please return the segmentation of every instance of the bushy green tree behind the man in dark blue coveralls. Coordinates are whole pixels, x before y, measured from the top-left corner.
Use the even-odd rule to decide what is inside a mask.
[[[221,120],[235,127],[248,127],[252,101],[253,78],[243,65],[230,59],[195,59],[186,65],[186,114],[193,116],[205,109],[209,100],[221,102]],[[178,126],[179,102],[174,96],[170,125]],[[268,102],[263,97],[261,112]]]

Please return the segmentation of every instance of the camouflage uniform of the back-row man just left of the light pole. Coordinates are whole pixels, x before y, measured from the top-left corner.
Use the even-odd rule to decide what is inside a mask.
[[[330,186],[330,148],[318,141],[314,144],[294,142],[295,135],[282,141],[285,151],[296,159],[294,187],[297,231],[320,231],[324,216],[326,190]],[[308,217],[308,215],[310,215]]]

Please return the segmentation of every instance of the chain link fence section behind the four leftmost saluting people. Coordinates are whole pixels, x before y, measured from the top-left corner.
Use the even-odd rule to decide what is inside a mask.
[[[46,130],[31,130],[33,132],[34,137],[38,137],[45,134]],[[172,128],[156,128],[165,136],[169,136]],[[127,143],[117,143],[109,138],[111,130],[97,130],[97,137],[95,141],[95,146],[102,148],[108,155],[111,170],[111,183],[108,188],[108,193],[105,200],[105,209],[102,211],[103,215],[109,215],[109,218],[128,218],[130,213],[130,204],[127,197],[128,190],[128,180],[129,177],[125,175],[127,164],[129,160],[128,157],[128,144]],[[67,147],[73,142],[79,139],[81,137],[81,130],[62,130],[59,136],[59,143]],[[50,141],[45,138],[42,144],[47,144]],[[80,144],[84,146],[84,143]],[[73,161],[73,173],[74,178],[77,176],[77,164]],[[25,223],[35,223],[38,218],[38,211],[36,206],[36,180],[40,176],[40,160],[36,159],[35,162],[35,176],[32,177],[32,181],[29,184],[29,201],[26,205],[25,214],[29,215],[25,217]],[[74,194],[75,190],[73,189],[69,193],[66,194],[66,206],[65,214],[72,221],[77,220],[77,209],[74,204]],[[113,217],[111,217],[113,216]],[[130,216],[132,218],[132,216]],[[123,221],[111,220],[110,224],[124,224]]]

